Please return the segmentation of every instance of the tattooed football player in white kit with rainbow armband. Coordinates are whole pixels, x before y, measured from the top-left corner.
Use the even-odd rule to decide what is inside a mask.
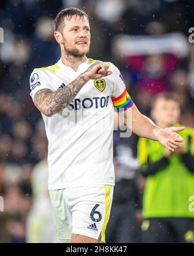
[[[169,150],[182,138],[175,128],[159,128],[138,112],[117,67],[85,56],[90,45],[85,12],[64,9],[54,27],[61,58],[34,69],[30,95],[45,122],[56,233],[59,242],[105,242],[114,187],[114,110],[131,108],[133,132]]]

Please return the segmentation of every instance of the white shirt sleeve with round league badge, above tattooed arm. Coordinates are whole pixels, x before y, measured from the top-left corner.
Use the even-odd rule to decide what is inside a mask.
[[[37,91],[46,88],[52,89],[47,76],[43,71],[39,69],[34,69],[32,74],[30,75],[30,96],[32,97],[32,100],[34,100],[34,95],[37,93]]]

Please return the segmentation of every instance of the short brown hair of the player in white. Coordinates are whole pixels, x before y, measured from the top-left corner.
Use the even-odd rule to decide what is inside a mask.
[[[53,21],[53,26],[55,31],[61,30],[62,25],[64,24],[65,19],[71,19],[72,16],[80,16],[80,17],[87,17],[87,20],[89,20],[89,16],[83,11],[75,7],[65,8],[61,10],[56,18]]]

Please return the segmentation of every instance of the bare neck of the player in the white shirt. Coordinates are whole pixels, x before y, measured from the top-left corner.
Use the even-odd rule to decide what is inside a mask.
[[[68,55],[65,52],[63,52],[61,56],[61,60],[64,65],[67,67],[71,67],[74,71],[78,70],[78,67],[81,63],[85,62],[86,56],[81,56],[81,57],[75,57],[72,55]]]

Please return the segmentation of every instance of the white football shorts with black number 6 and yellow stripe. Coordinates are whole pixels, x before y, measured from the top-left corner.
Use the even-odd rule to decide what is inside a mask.
[[[58,242],[70,240],[72,233],[93,239],[101,233],[105,242],[113,189],[113,185],[98,185],[50,190]]]

